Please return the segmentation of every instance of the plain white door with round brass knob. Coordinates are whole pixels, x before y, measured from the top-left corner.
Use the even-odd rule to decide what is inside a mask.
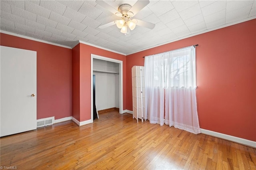
[[[36,51],[1,46],[0,136],[36,129]]]

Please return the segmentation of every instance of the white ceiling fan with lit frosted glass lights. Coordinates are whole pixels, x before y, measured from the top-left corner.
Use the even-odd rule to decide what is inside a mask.
[[[130,6],[129,4],[122,4],[119,6],[118,10],[116,10],[103,0],[96,0],[96,3],[105,8],[106,10],[109,10],[116,16],[121,17],[120,20],[115,20],[107,24],[103,24],[98,28],[104,29],[116,24],[116,26],[121,29],[120,32],[124,33],[125,36],[130,36],[130,30],[134,30],[136,25],[149,28],[151,30],[155,27],[155,24],[152,24],[150,22],[145,22],[138,19],[131,19],[140,10],[142,10],[142,8],[149,4],[149,0],[138,0],[133,6]]]

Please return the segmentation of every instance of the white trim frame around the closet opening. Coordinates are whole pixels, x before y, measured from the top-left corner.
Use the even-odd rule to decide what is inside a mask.
[[[119,113],[122,114],[125,112],[123,111],[123,61],[118,59],[103,57],[100,55],[91,54],[91,121],[92,122],[93,122],[93,59],[94,58],[120,64],[119,65]]]

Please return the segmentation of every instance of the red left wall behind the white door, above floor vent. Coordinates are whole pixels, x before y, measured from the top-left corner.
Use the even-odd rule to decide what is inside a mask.
[[[0,34],[0,45],[37,51],[37,119],[72,116],[72,50]]]

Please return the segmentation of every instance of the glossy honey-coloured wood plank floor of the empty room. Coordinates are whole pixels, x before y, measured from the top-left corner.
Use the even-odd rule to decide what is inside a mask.
[[[256,149],[167,125],[102,113],[0,138],[0,166],[17,169],[256,169]]]

